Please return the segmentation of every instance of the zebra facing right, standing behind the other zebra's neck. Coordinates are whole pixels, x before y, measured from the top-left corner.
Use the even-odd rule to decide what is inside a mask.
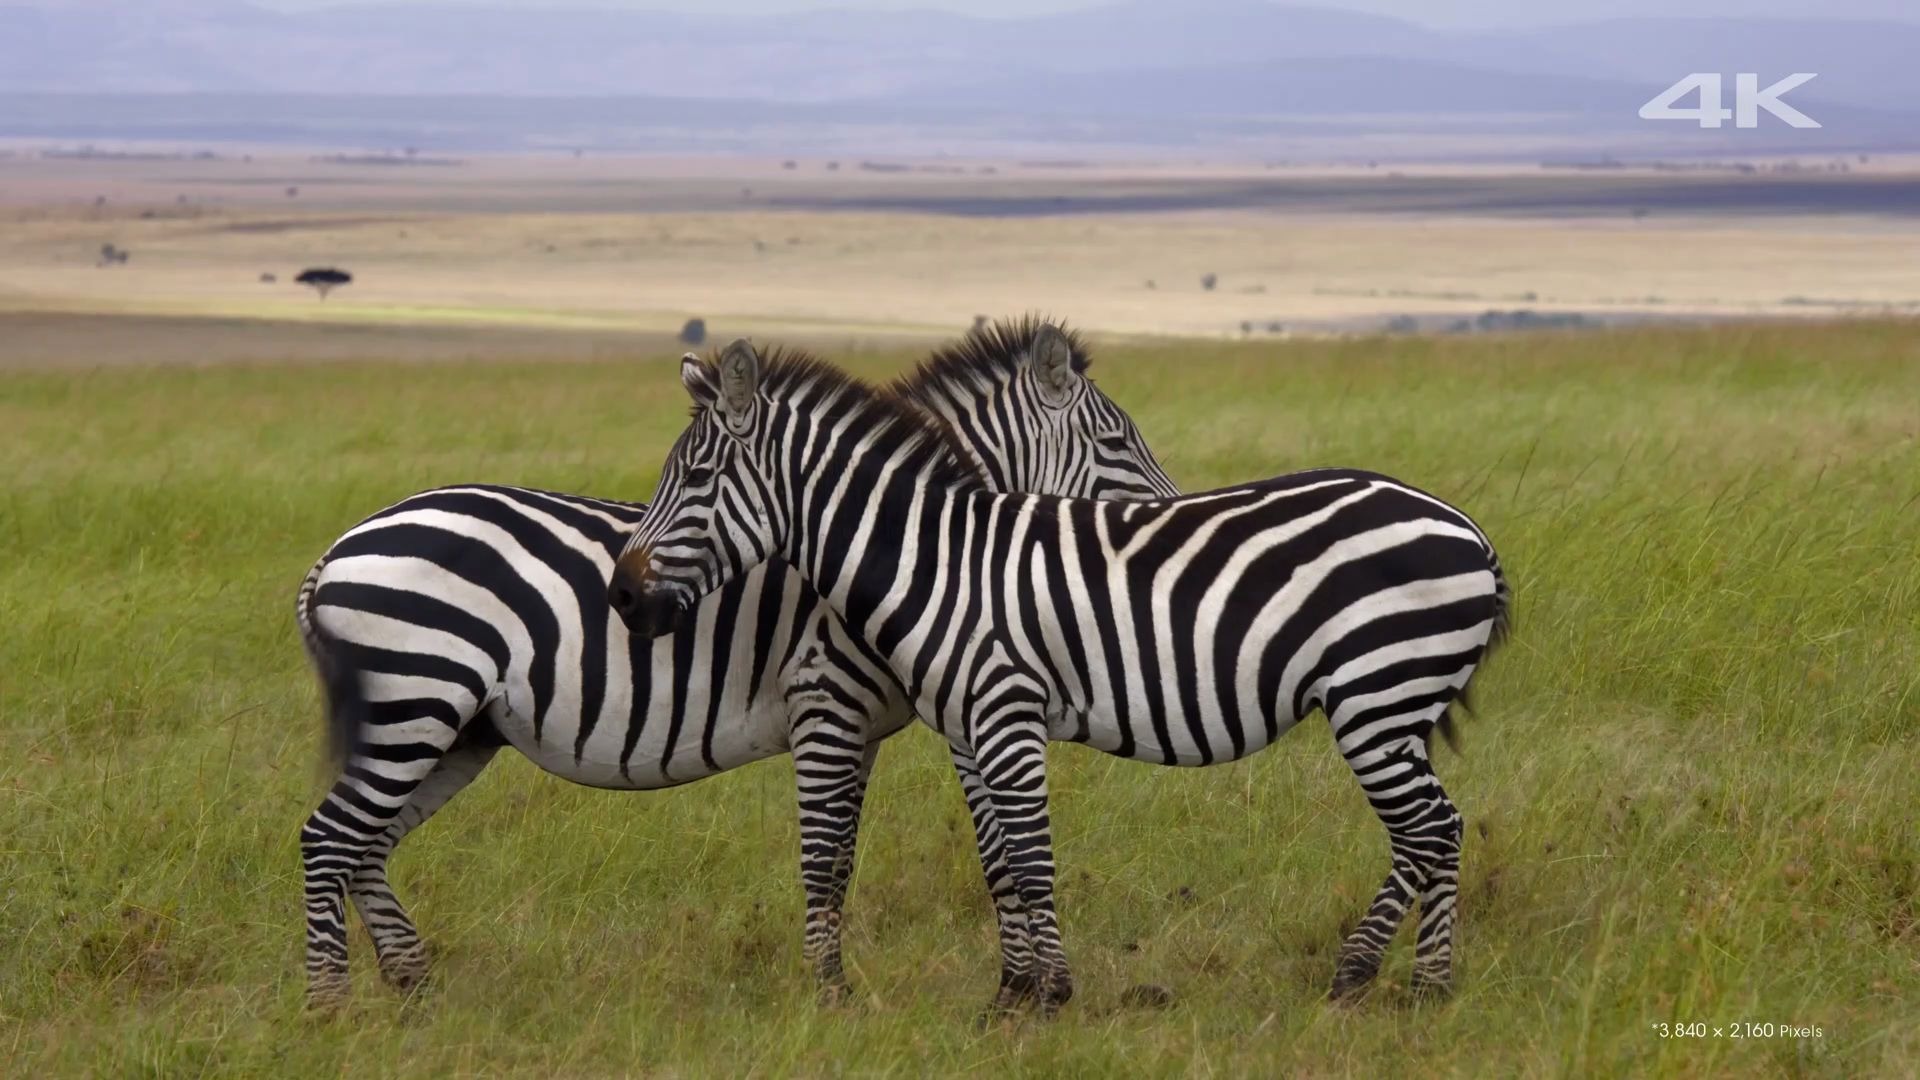
[[[1087,363],[1077,336],[1025,319],[968,334],[893,390],[920,402],[929,425],[960,432],[991,482],[1171,494]],[[386,863],[501,746],[557,776],[624,790],[791,753],[804,951],[822,997],[845,992],[839,922],[860,801],[879,740],[910,719],[906,700],[780,563],[720,588],[672,638],[626,634],[607,577],[643,513],[526,488],[440,488],[353,527],[307,575],[298,621],[342,761],[300,834],[309,1001],[336,1005],[348,992],[344,894],[390,984],[407,990],[426,974]],[[972,761],[954,763],[977,786]],[[983,828],[991,838],[991,819]],[[987,872],[1014,894],[1004,867]]]

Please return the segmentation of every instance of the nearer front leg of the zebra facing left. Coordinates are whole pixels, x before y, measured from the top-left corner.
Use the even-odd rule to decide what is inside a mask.
[[[993,819],[1000,830],[1006,869],[1025,911],[1027,945],[1031,947],[1033,997],[1041,1015],[1052,1017],[1073,997],[1073,974],[1068,970],[1060,945],[1060,920],[1054,915],[1054,838],[1046,813],[1046,724],[1035,721],[1000,721],[975,728],[973,757],[993,803]],[[1020,957],[1004,955],[1002,970]],[[1002,976],[1004,980],[1004,976]],[[1002,986],[1002,994],[1004,994]],[[996,995],[989,1007],[1000,1009]]]

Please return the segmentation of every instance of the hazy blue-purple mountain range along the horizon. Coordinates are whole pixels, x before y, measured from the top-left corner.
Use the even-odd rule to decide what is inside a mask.
[[[1672,125],[1636,111],[1682,75],[1728,73],[1732,90],[1736,71],[1764,83],[1814,71],[1791,102],[1826,131],[1793,133],[1803,144],[1920,146],[1914,58],[1920,25],[1889,21],[1444,33],[1260,0],[1123,0],[1025,19],[0,0],[0,94],[634,96],[649,113],[662,100],[751,104],[741,115],[766,125],[795,108],[820,125],[979,127],[1014,115],[1029,133],[1044,117],[1106,117],[1110,136],[1158,144],[1181,140],[1179,117],[1215,138],[1231,136],[1235,119],[1269,131],[1390,113],[1490,135],[1548,131],[1540,121],[1553,117],[1561,131],[1672,136]],[[0,135],[48,135],[17,102],[0,104]]]

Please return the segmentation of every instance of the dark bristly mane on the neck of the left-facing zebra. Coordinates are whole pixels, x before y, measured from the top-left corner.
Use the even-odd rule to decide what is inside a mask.
[[[720,354],[708,354],[705,365],[718,384]],[[947,421],[914,407],[893,386],[870,386],[806,350],[762,350],[760,396],[787,404],[822,425],[847,421],[860,432],[897,430],[908,448],[906,465],[929,463],[933,484],[979,488],[987,482]]]

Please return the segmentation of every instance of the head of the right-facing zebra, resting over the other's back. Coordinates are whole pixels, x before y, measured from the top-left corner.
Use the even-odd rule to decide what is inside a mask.
[[[995,490],[1175,498],[1133,417],[1087,377],[1079,334],[1041,319],[975,327],[893,392],[947,421]]]

